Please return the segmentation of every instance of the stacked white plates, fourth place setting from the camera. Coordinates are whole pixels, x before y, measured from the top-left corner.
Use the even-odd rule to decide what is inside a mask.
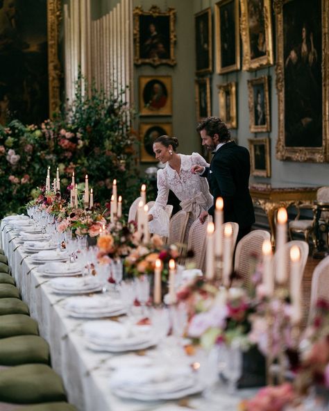
[[[53,278],[49,281],[53,292],[59,294],[87,294],[102,290],[102,284],[94,277]]]

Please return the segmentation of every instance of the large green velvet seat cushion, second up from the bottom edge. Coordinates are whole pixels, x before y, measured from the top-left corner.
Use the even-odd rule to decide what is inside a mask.
[[[15,404],[66,401],[62,380],[46,364],[24,364],[0,371],[0,399]]]

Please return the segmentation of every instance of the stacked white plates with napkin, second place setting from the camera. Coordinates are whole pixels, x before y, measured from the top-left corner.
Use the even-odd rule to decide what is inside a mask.
[[[137,326],[115,321],[92,321],[83,331],[88,348],[93,351],[119,353],[147,349],[158,344],[151,326]]]

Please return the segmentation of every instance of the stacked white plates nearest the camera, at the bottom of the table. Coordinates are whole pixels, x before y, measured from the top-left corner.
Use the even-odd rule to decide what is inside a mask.
[[[174,400],[204,389],[198,374],[185,365],[124,366],[110,379],[117,396],[141,401]]]

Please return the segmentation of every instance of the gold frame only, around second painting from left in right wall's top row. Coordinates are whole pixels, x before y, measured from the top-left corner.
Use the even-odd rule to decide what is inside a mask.
[[[220,8],[230,1],[235,2],[235,65],[221,67],[221,13]],[[239,0],[220,0],[215,4],[214,22],[215,35],[217,39],[216,47],[216,71],[218,74],[234,72],[240,69],[240,37],[239,37]]]

